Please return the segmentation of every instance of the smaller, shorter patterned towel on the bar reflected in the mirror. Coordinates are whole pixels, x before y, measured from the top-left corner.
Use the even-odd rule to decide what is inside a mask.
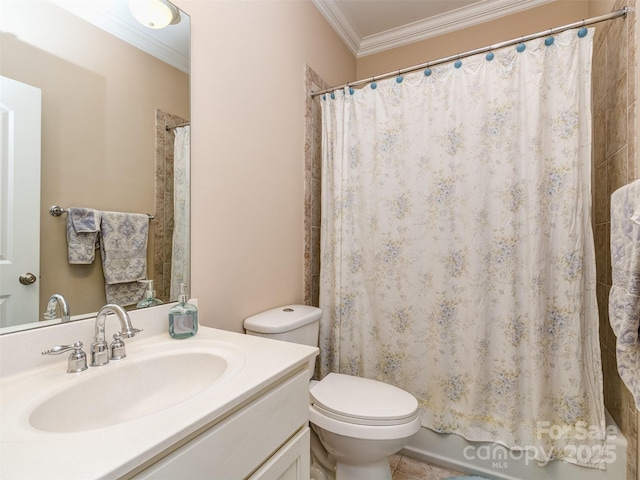
[[[67,209],[67,257],[69,263],[88,265],[96,258],[100,212],[92,208]]]

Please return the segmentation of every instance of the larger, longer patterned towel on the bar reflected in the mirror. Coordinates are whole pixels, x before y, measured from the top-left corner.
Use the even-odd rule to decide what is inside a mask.
[[[142,300],[147,278],[149,217],[101,212],[100,253],[107,303],[133,305]]]

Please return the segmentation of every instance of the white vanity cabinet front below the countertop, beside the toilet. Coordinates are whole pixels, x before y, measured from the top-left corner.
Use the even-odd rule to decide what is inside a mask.
[[[308,369],[298,370],[267,385],[236,411],[129,478],[307,480],[308,378]]]

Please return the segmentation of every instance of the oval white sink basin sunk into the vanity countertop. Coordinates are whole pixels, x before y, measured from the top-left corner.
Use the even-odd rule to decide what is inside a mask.
[[[237,352],[221,348],[139,353],[68,374],[77,375],[77,381],[35,405],[29,424],[40,431],[71,433],[130,422],[209,390],[244,363]]]

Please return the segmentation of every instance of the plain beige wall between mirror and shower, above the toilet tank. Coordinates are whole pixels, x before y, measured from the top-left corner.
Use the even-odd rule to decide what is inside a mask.
[[[192,293],[204,325],[242,331],[304,301],[305,63],[355,59],[310,1],[176,4],[192,20]]]

